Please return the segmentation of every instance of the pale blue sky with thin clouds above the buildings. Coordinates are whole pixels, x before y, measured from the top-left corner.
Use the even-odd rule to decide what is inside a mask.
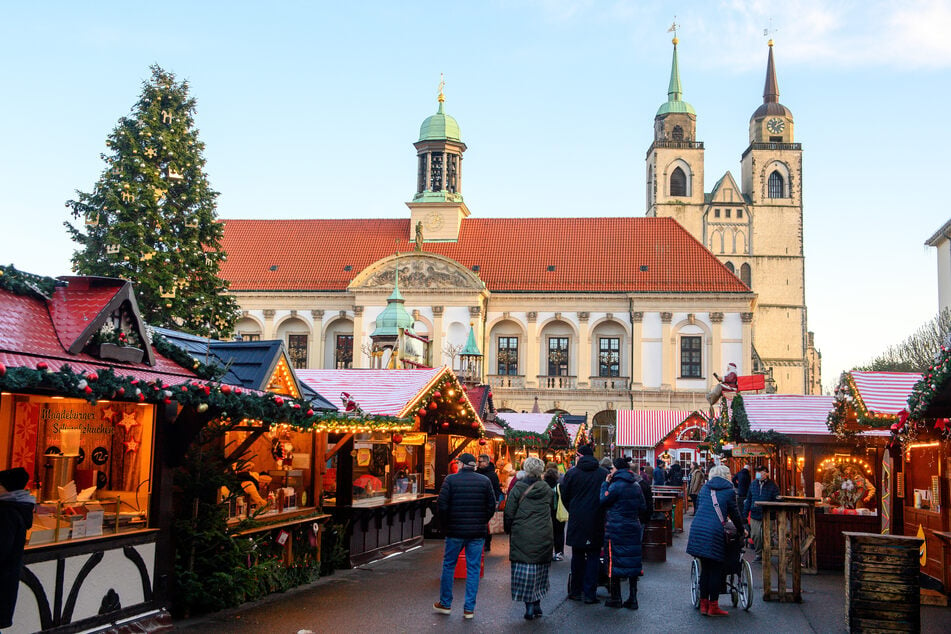
[[[739,177],[775,41],[829,388],[938,310],[951,1],[3,2],[0,262],[69,273],[64,204],[151,64],[197,99],[221,218],[407,217],[440,73],[474,216],[643,216],[674,21],[705,191]]]

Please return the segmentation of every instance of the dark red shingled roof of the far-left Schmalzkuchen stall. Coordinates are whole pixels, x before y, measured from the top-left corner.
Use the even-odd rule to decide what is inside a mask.
[[[45,302],[0,290],[0,362],[7,367],[35,368],[39,362],[44,361],[51,370],[58,370],[67,364],[75,371],[113,368],[120,376],[148,380],[162,378],[166,382],[184,382],[195,378],[191,370],[158,353],[155,354],[154,366],[143,363],[104,362],[85,353],[70,354],[66,350],[68,344],[60,342],[53,327],[53,317],[48,306],[56,303],[53,300]],[[89,320],[94,319],[96,315],[97,313],[89,314]],[[67,329],[75,329],[81,316],[60,316],[60,319]]]

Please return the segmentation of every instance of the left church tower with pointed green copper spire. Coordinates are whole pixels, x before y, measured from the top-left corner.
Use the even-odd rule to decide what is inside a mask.
[[[647,150],[647,215],[674,218],[699,236],[703,143],[697,141],[697,113],[683,100],[677,44],[675,37],[667,101],[657,109],[654,142]]]

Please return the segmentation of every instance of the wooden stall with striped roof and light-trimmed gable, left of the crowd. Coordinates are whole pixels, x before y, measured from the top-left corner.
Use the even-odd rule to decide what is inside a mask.
[[[323,508],[346,523],[351,565],[422,543],[426,512],[457,455],[487,441],[466,390],[448,368],[298,370],[344,414],[395,416],[407,426],[352,425],[317,448]]]

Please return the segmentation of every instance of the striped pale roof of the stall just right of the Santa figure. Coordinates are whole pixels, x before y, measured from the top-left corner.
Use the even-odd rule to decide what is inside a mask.
[[[749,394],[743,396],[750,431],[776,431],[781,434],[830,436],[826,420],[832,411],[834,396],[799,394]],[[887,436],[887,430],[863,431],[865,436]]]

